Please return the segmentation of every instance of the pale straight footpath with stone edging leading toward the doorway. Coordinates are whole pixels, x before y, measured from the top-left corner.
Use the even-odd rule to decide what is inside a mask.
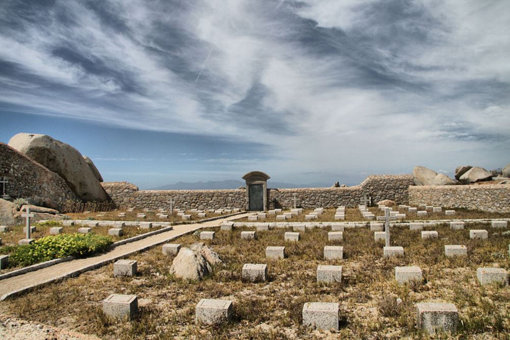
[[[125,245],[117,246],[108,253],[58,263],[34,272],[29,272],[4,279],[0,281],[0,300],[5,300],[8,297],[22,294],[36,286],[45,283],[66,277],[78,276],[81,273],[96,269],[118,258],[145,250],[159,244],[163,244],[170,239],[193,232],[197,229],[217,227],[224,221],[237,220],[238,218],[243,218],[248,215],[249,213],[244,213],[221,218],[215,221],[174,226],[173,230],[169,230],[157,235],[152,235]]]

